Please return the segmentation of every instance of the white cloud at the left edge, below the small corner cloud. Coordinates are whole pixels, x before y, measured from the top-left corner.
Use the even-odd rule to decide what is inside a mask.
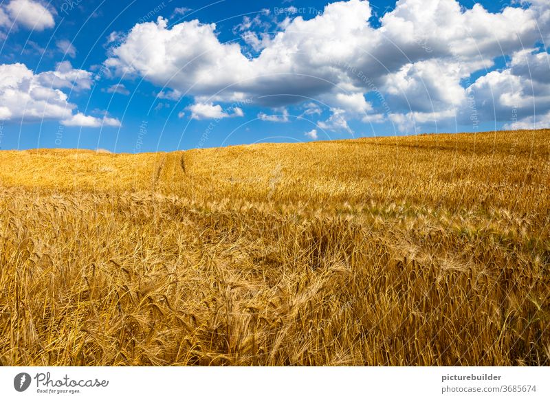
[[[55,71],[34,72],[21,63],[0,65],[0,119],[19,121],[61,120],[67,125],[100,126],[94,117],[73,115],[76,105],[62,88],[89,89],[91,74],[59,63]],[[115,121],[107,118],[106,124]]]

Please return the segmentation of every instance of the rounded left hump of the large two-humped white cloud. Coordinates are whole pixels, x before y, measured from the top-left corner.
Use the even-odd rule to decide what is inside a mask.
[[[112,50],[107,67],[119,74],[146,76],[181,93],[192,88],[195,94],[210,94],[252,73],[238,44],[219,43],[215,24],[193,20],[171,29],[166,25],[162,18],[135,25],[122,45]]]

